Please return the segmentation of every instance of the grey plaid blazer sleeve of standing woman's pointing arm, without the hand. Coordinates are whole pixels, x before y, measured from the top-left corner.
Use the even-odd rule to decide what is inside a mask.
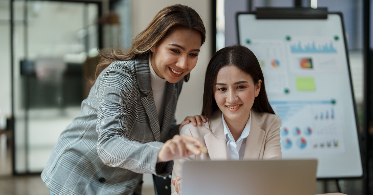
[[[166,176],[172,168],[172,162],[168,169],[163,163],[160,164],[163,165],[163,170],[156,170],[156,167],[160,167],[156,164],[162,142],[141,144],[127,139],[129,129],[126,101],[131,100],[128,96],[136,95],[132,94],[132,87],[137,87],[134,74],[113,65],[101,74],[98,80],[97,153],[108,166],[121,167],[136,173]]]

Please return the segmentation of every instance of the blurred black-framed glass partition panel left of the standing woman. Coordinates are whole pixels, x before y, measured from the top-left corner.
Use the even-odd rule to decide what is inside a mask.
[[[15,172],[41,172],[89,91],[98,4],[14,0]]]

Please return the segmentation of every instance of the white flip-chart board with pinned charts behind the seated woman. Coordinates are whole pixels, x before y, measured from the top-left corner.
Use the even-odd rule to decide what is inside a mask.
[[[341,16],[256,19],[239,13],[237,22],[239,44],[257,56],[270,104],[282,122],[282,158],[317,158],[320,179],[361,177]]]

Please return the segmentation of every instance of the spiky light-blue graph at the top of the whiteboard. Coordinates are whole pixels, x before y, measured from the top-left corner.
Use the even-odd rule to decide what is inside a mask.
[[[302,46],[301,41],[290,45],[291,53],[337,53],[337,50],[333,46],[333,42],[330,41],[330,44],[318,45],[316,47],[315,41],[312,42],[312,45],[308,43],[307,45]]]

